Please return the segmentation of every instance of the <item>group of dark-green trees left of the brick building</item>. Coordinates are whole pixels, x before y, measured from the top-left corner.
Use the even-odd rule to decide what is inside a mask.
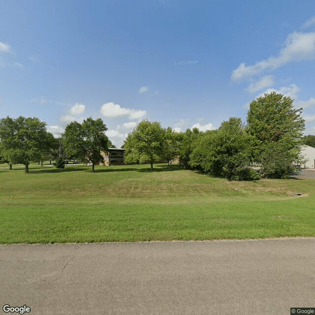
[[[46,123],[36,117],[16,119],[10,117],[0,120],[0,162],[24,164],[29,172],[31,162],[56,160],[54,165],[63,168],[67,159],[92,162],[92,172],[97,162],[103,161],[100,152],[112,147],[105,134],[103,121],[87,118],[82,124],[72,122],[65,127],[60,138],[55,138],[46,129]]]

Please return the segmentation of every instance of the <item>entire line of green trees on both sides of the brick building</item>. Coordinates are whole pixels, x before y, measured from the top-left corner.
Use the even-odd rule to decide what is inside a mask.
[[[153,169],[154,161],[167,160],[171,167],[172,160],[178,159],[185,168],[228,180],[287,178],[300,167],[301,145],[315,147],[315,136],[303,137],[301,111],[290,97],[272,92],[252,101],[246,124],[231,117],[216,130],[175,132],[144,120],[124,142],[125,163],[149,161]],[[25,164],[26,172],[30,162],[55,160],[55,166],[63,168],[65,159],[76,159],[92,162],[94,172],[95,164],[103,162],[100,152],[113,147],[106,130],[100,118],[90,117],[82,124],[68,124],[55,138],[38,118],[2,118],[0,159],[11,166]],[[259,171],[251,165],[259,166]]]

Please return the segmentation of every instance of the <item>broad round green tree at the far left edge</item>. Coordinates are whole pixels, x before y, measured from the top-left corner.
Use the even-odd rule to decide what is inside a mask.
[[[3,158],[11,164],[24,164],[26,173],[29,173],[30,162],[41,160],[51,146],[46,123],[36,117],[2,118],[0,139]]]

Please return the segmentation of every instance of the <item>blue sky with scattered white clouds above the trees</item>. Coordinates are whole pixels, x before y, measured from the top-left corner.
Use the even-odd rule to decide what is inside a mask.
[[[0,0],[0,119],[101,118],[119,147],[143,119],[245,123],[271,91],[315,134],[314,0]]]

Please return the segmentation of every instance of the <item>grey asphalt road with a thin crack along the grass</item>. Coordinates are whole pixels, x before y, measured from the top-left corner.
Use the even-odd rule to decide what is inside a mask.
[[[289,315],[315,307],[315,238],[0,246],[2,306],[46,314]],[[17,313],[14,313],[17,314]]]

